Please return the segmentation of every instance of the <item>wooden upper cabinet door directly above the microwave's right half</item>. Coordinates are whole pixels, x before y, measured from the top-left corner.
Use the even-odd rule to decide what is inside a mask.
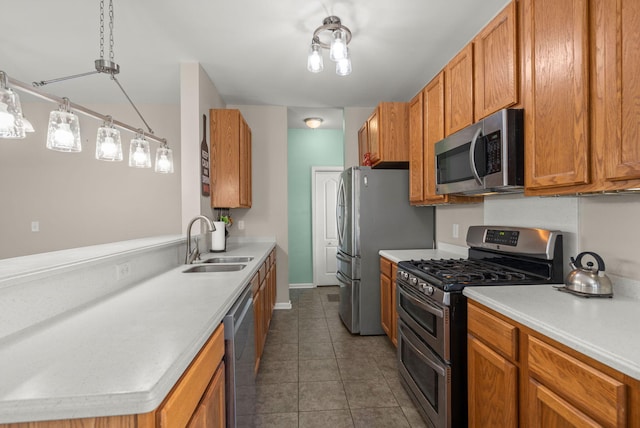
[[[512,1],[473,41],[475,119],[518,103],[516,2]]]

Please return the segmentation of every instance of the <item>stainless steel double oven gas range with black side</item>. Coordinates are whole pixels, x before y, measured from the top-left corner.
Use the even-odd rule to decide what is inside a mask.
[[[471,226],[467,259],[398,263],[398,362],[405,389],[428,425],[467,426],[464,287],[561,283],[562,234]]]

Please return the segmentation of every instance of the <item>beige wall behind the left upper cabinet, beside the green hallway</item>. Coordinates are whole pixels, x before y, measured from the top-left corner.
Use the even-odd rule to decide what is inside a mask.
[[[287,108],[279,106],[232,106],[251,128],[252,204],[233,209],[230,236],[276,239],[277,303],[289,303],[289,231],[287,210]],[[239,230],[238,222],[245,229]]]

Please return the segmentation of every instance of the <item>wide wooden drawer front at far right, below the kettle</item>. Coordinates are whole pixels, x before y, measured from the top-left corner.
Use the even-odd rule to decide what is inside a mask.
[[[626,389],[572,356],[529,336],[529,370],[533,377],[605,426],[623,426]]]

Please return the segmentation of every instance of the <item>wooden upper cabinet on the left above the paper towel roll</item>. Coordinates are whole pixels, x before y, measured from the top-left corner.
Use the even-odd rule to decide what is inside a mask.
[[[251,208],[251,129],[239,110],[212,109],[211,206]]]

